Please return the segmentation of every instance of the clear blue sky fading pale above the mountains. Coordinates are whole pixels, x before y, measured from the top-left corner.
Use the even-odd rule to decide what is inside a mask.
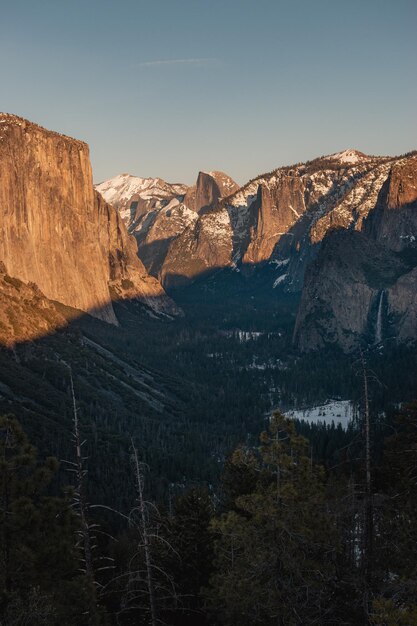
[[[0,8],[0,110],[87,141],[95,182],[417,148],[416,0]]]

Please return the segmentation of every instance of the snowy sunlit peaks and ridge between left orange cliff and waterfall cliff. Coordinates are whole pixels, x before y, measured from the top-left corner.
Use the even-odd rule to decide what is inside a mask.
[[[271,287],[298,292],[326,233],[335,227],[362,228],[395,162],[346,150],[278,168],[241,189],[222,172],[200,172],[185,193],[148,180],[140,197],[136,193],[127,200],[133,179],[126,175],[98,189],[106,199],[121,202],[141,260],[165,286],[172,286],[174,276],[192,281],[220,267],[273,263],[277,276]],[[208,218],[212,213],[217,217]]]

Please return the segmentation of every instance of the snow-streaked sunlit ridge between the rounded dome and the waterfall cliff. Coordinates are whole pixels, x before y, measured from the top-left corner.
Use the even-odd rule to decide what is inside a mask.
[[[320,243],[329,228],[361,227],[391,162],[345,150],[249,181],[225,200],[233,261],[257,264],[290,257],[285,287],[298,290],[314,254],[312,244]]]

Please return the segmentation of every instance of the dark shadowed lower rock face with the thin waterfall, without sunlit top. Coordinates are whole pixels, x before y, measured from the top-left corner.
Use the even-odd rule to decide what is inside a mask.
[[[397,252],[366,232],[335,229],[309,266],[294,341],[301,351],[337,343],[352,352],[417,338],[417,246]]]

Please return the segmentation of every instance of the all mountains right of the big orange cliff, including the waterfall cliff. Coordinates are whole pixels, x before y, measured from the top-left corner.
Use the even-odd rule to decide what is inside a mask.
[[[242,188],[222,172],[200,172],[190,188],[126,174],[96,188],[172,293],[219,268],[272,265],[270,288],[301,292],[301,350],[417,337],[416,153],[349,149]]]

